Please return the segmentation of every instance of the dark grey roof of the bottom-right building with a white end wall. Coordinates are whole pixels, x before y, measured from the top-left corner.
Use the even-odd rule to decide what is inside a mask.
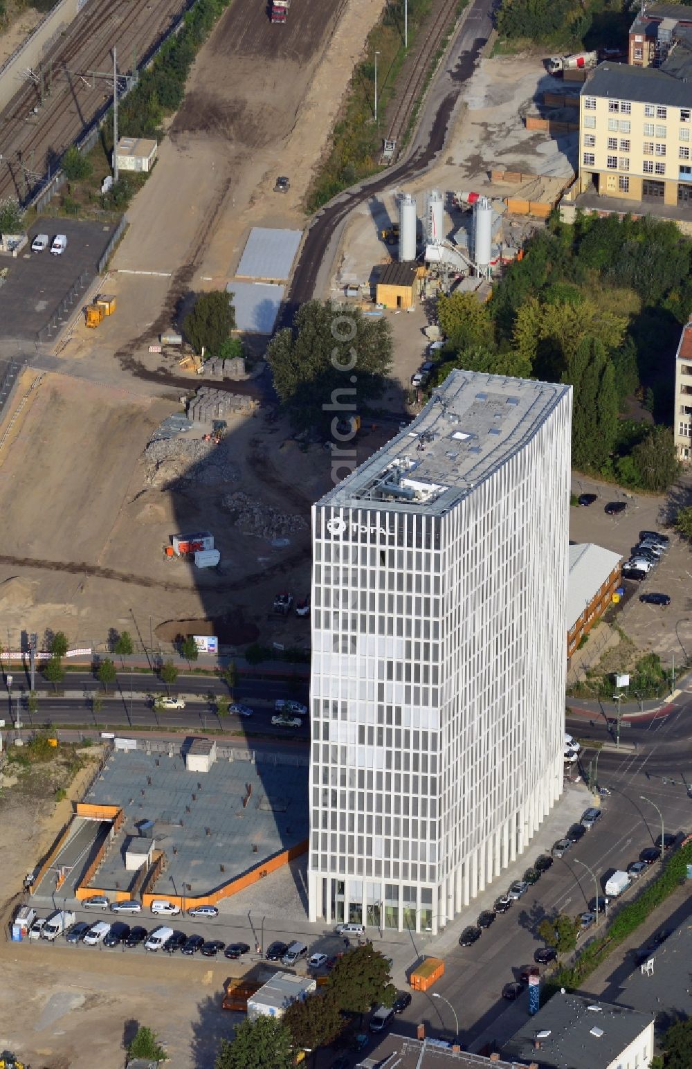
[[[522,1024],[502,1053],[534,1062],[540,1069],[607,1069],[652,1025],[654,1018],[649,1010],[613,1006],[587,995],[556,994]]]

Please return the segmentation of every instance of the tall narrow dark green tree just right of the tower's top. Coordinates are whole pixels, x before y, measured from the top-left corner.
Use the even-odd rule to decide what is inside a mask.
[[[583,338],[567,359],[563,383],[575,387],[572,400],[572,465],[601,468],[617,434],[615,369],[596,338]]]

